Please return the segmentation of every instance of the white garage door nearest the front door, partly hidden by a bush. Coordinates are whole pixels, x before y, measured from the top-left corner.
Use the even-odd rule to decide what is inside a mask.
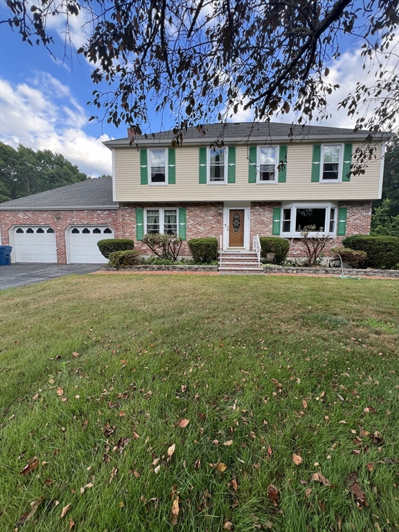
[[[107,226],[76,225],[68,229],[69,262],[80,264],[104,264],[107,259],[100,254],[97,242],[114,238],[114,231]]]

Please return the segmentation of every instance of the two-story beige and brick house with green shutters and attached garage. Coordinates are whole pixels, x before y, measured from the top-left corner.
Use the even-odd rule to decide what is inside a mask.
[[[106,230],[133,238],[143,254],[149,253],[141,245],[143,235],[159,232],[177,233],[184,242],[215,236],[222,251],[235,252],[250,251],[256,235],[281,236],[290,242],[290,256],[299,257],[301,228],[314,225],[332,237],[328,252],[344,236],[369,233],[371,204],[382,192],[384,142],[389,139],[381,137],[377,157],[368,161],[364,174],[353,176],[353,154],[367,132],[281,123],[214,124],[202,133],[188,128],[182,145],[175,148],[170,132],[136,136],[131,143],[132,134],[129,130],[126,138],[105,142],[112,150],[112,197],[109,183],[105,201],[96,193],[95,201],[76,198],[81,205],[69,201],[63,211],[45,201],[55,191],[36,195],[47,205],[42,211],[37,207],[34,215],[28,215],[28,207],[17,213],[24,200],[35,204],[35,196],[3,203],[3,243],[15,245],[17,235],[24,242],[26,230],[17,231],[24,231],[28,220],[36,227],[30,236],[44,221],[55,231],[52,260],[58,262],[98,261],[96,241],[105,238]],[[83,191],[81,184],[57,190],[64,190],[65,196],[69,188],[76,195],[79,186],[84,195],[90,194],[90,187],[94,192],[95,185]],[[86,254],[73,251],[71,242],[76,249],[81,244]],[[188,254],[187,245],[182,254]]]

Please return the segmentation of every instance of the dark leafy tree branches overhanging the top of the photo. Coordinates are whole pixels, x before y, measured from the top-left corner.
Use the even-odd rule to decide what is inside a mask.
[[[71,35],[71,17],[85,12],[82,24],[93,21],[93,30],[78,53],[95,67],[93,103],[105,107],[109,123],[136,125],[138,134],[149,105],[177,116],[175,143],[187,125],[215,116],[225,121],[241,107],[263,121],[290,109],[299,123],[322,118],[337,88],[328,82],[328,65],[345,35],[362,47],[364,68],[376,73],[371,86],[359,82],[341,103],[359,114],[356,127],[390,129],[399,112],[399,69],[384,67],[397,60],[389,52],[397,0],[8,0],[7,6],[8,23],[22,39],[49,49],[48,19],[63,16]],[[103,90],[102,82],[111,87]],[[375,101],[366,120],[363,110]]]

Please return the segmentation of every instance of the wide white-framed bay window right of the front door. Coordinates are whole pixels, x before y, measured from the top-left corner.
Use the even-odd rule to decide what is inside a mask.
[[[281,236],[299,237],[305,227],[314,227],[314,233],[335,235],[337,206],[333,204],[282,206]]]

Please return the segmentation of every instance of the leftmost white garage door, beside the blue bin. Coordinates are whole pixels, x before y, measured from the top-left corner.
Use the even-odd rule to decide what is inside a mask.
[[[13,230],[16,263],[56,263],[54,229],[48,226],[19,226]]]

